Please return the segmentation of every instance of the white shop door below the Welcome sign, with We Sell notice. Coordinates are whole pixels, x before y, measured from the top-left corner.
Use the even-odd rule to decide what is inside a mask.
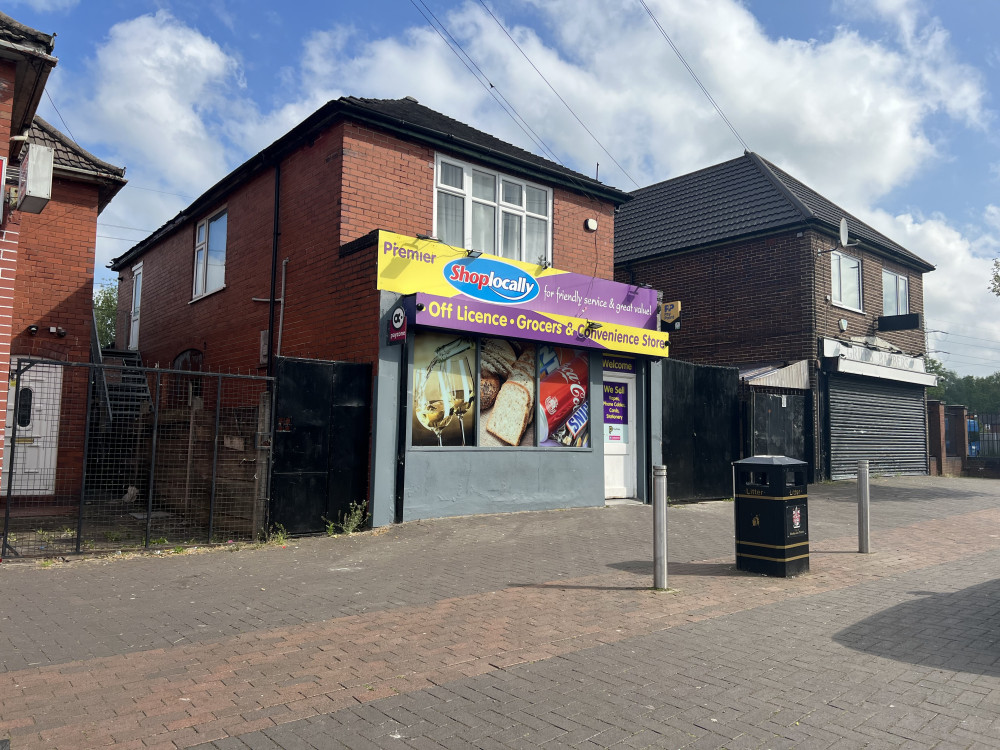
[[[604,496],[636,495],[635,375],[604,373]]]

